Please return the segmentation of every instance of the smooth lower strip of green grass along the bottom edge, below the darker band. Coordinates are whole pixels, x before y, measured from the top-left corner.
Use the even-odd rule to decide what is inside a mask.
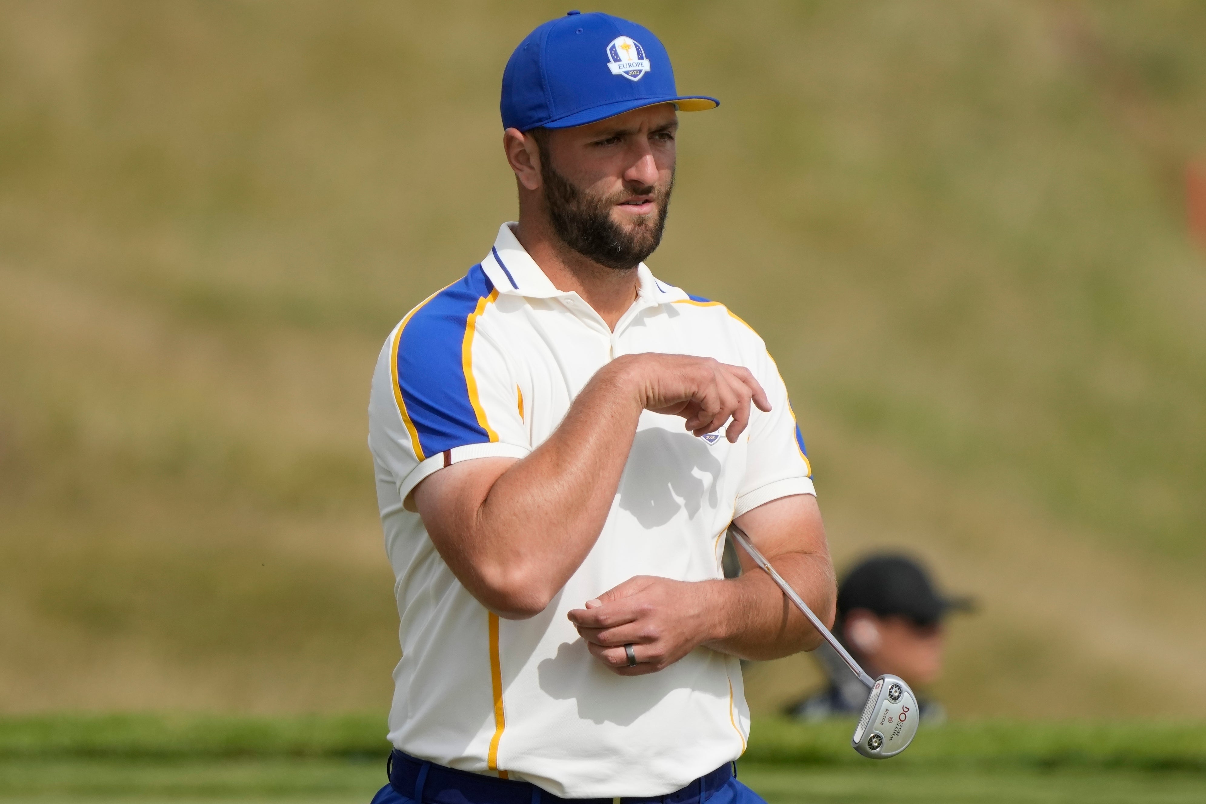
[[[1185,804],[1202,800],[1198,774],[1025,768],[810,767],[740,763],[740,780],[769,804],[898,802],[1018,804],[1099,802]],[[117,802],[347,802],[368,804],[385,784],[380,762],[211,759],[206,762],[36,761],[0,767],[0,800],[58,804]]]

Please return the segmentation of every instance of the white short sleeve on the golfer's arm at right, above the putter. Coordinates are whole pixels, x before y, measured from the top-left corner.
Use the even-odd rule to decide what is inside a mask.
[[[780,497],[816,494],[788,388],[774,360],[765,351],[762,354],[750,368],[771,400],[771,411],[757,411],[750,421],[745,477],[737,492],[734,517]]]

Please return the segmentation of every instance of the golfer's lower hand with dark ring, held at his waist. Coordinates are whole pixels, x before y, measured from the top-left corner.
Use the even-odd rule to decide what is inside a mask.
[[[586,649],[619,675],[644,675],[674,664],[715,638],[716,585],[638,575],[569,612]],[[624,646],[637,664],[628,667]]]

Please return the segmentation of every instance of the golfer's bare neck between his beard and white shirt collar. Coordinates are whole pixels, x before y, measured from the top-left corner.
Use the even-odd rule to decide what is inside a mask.
[[[575,292],[615,329],[620,317],[637,299],[640,280],[637,266],[617,270],[601,265],[566,246],[546,222],[520,216],[515,237],[558,291]]]

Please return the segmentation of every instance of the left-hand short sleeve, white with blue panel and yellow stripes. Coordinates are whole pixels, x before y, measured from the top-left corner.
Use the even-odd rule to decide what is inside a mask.
[[[386,341],[373,376],[369,447],[400,498],[461,460],[523,458],[532,448],[519,386],[491,338],[498,293],[474,266],[411,311]]]

